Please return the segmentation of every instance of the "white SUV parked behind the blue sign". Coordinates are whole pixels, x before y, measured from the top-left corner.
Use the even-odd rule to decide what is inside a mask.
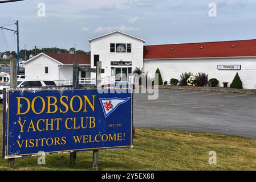
[[[41,88],[56,86],[54,81],[51,80],[25,80],[23,78],[17,80],[17,88]],[[10,82],[6,85],[0,86],[0,102],[3,101],[3,89],[10,88]]]

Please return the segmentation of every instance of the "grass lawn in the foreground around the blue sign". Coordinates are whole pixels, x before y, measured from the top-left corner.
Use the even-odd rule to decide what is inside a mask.
[[[209,151],[217,152],[216,166],[208,163]],[[15,170],[91,170],[92,152],[79,152],[76,166],[69,156],[47,155],[42,166],[37,157],[18,158]],[[134,148],[99,152],[100,170],[256,170],[255,161],[255,139],[159,129],[137,129]],[[0,159],[0,170],[12,170],[6,159]]]

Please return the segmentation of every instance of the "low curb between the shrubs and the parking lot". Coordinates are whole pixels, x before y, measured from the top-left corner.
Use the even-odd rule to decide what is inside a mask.
[[[239,93],[256,95],[256,89],[230,89],[222,87],[200,87],[200,86],[173,86],[173,85],[159,85],[159,89],[170,90],[194,90],[194,91],[208,91],[208,92],[226,92],[226,93]]]

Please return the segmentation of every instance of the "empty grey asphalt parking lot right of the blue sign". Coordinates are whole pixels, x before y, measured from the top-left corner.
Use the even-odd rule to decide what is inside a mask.
[[[147,100],[147,94],[135,94],[134,123],[256,138],[256,96],[160,90],[158,100]]]

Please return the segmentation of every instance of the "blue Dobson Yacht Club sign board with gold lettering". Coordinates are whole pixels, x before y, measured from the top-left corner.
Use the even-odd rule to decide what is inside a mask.
[[[5,158],[131,148],[132,90],[104,91],[7,89]]]

